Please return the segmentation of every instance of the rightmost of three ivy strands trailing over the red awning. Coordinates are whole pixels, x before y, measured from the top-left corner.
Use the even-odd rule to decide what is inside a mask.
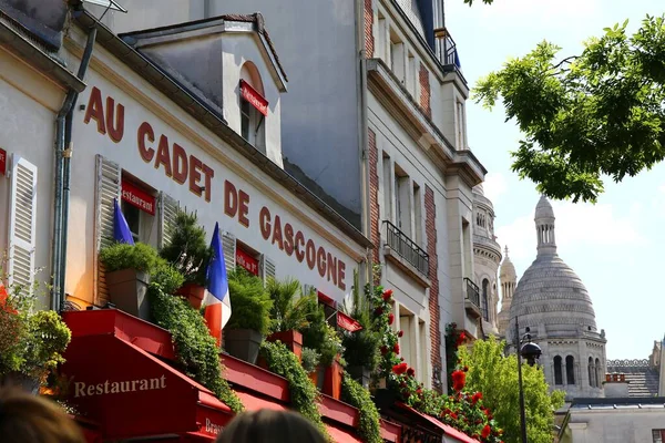
[[[371,400],[369,391],[345,372],[341,381],[341,400],[356,408],[360,413],[358,433],[367,443],[382,443],[379,411]]]

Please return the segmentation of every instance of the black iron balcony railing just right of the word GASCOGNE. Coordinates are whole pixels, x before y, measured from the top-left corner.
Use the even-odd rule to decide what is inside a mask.
[[[429,255],[392,223],[385,220],[383,228],[386,258],[429,287]]]

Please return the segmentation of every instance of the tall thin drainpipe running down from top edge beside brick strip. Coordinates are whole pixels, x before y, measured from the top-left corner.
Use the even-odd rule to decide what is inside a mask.
[[[358,72],[357,90],[359,94],[359,106],[358,106],[358,120],[359,120],[359,143],[360,143],[360,171],[362,178],[362,190],[364,190],[364,212],[365,212],[365,227],[364,231],[367,238],[371,239],[371,212],[370,207],[370,165],[369,165],[369,146],[368,146],[368,124],[367,124],[367,53],[365,52],[365,0],[356,0],[356,42],[358,53]],[[378,247],[378,245],[375,245]],[[369,285],[369,293],[374,292],[374,255],[370,248],[367,249],[366,254],[366,276],[367,284]]]

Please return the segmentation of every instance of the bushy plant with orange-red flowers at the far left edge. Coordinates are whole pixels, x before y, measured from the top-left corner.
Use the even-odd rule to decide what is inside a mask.
[[[55,311],[35,311],[35,288],[0,285],[0,385],[37,394],[64,362],[71,331]]]

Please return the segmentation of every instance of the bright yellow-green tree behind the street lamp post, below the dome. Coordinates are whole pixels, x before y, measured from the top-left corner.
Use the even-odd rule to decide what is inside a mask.
[[[520,443],[520,396],[518,359],[505,357],[505,342],[493,337],[478,340],[471,351],[459,350],[467,372],[467,390],[483,393],[484,405],[494,414],[504,431],[507,443]],[[522,365],[526,432],[532,443],[551,443],[554,411],[563,405],[563,391],[549,392],[543,372],[528,364]]]

